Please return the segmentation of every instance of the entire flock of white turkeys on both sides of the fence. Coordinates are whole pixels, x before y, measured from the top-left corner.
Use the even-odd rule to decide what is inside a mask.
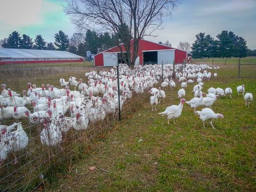
[[[181,65],[182,66],[182,65]],[[179,66],[180,67],[180,66]],[[120,108],[124,103],[132,98],[133,94],[150,93],[150,105],[152,110],[157,110],[159,102],[164,102],[165,90],[168,86],[175,90],[176,83],[172,79],[173,73],[181,89],[178,91],[180,104],[167,107],[162,115],[166,115],[169,120],[179,117],[185,103],[194,109],[203,123],[207,119],[223,118],[221,114],[215,114],[212,109],[204,108],[196,111],[199,106],[211,107],[218,97],[228,95],[231,98],[232,90],[222,90],[221,88],[210,88],[208,94],[202,92],[203,80],[210,80],[212,69],[208,65],[187,64],[180,69],[172,65],[145,65],[134,66],[130,69],[127,65],[119,65],[119,100]],[[219,67],[214,67],[218,69]],[[162,74],[163,70],[163,74]],[[217,78],[217,73],[213,77]],[[155,88],[159,80],[163,77],[161,87]],[[17,154],[22,153],[28,147],[29,140],[26,129],[23,129],[20,119],[27,119],[30,125],[41,126],[38,137],[44,146],[59,146],[65,140],[65,135],[70,130],[83,131],[89,125],[104,121],[107,115],[117,115],[118,113],[118,79],[116,67],[110,70],[101,70],[85,73],[86,83],[82,78],[76,81],[76,77],[70,76],[66,82],[61,78],[59,83],[61,88],[50,84],[42,84],[37,87],[35,84],[27,83],[27,91],[23,90],[18,94],[11,89],[6,90],[6,85],[2,84],[0,95],[0,124],[5,119],[15,119],[17,123],[11,125],[0,125],[0,165],[10,154],[14,155],[14,164],[18,163]],[[177,82],[176,81],[176,82]],[[186,87],[189,83],[198,83],[194,86],[195,98],[190,101],[183,99],[186,95]],[[74,91],[70,90],[74,87]],[[246,105],[250,105],[253,99],[251,93],[246,93],[244,85],[237,87],[237,92],[244,95]],[[73,89],[72,89],[73,90]],[[149,91],[148,91],[149,90]],[[31,106],[31,107],[30,107]],[[4,121],[6,122],[6,121]],[[212,122],[210,122],[212,125]],[[213,125],[212,125],[213,127]]]

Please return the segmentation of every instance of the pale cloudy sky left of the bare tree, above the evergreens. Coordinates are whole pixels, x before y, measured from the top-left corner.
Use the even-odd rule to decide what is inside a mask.
[[[54,41],[54,34],[63,30],[74,33],[74,26],[63,12],[62,1],[6,0],[0,1],[0,39],[16,30],[33,38],[41,34],[46,41]]]

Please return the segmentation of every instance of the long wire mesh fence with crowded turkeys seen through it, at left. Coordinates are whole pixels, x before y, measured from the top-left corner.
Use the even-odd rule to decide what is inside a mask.
[[[91,70],[82,90],[50,85],[33,89],[29,84],[23,97],[2,85],[0,191],[35,190],[68,170],[90,152],[95,138],[105,137],[120,118],[148,101],[148,90],[159,87],[162,78],[171,78],[172,69],[172,65],[134,69],[120,65],[98,74]]]

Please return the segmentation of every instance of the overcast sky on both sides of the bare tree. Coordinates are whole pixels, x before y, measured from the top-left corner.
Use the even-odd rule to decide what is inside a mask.
[[[63,12],[62,0],[0,0],[0,39],[17,30],[32,38],[41,34],[47,42],[54,42],[54,34],[63,30],[69,37],[75,26]],[[164,29],[157,37],[145,37],[154,42],[165,42],[177,47],[180,41],[193,43],[196,34],[205,32],[215,37],[222,30],[231,30],[256,49],[255,0],[183,0],[166,18]]]

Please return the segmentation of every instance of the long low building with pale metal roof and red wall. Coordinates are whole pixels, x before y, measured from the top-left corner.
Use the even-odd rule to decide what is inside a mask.
[[[83,57],[67,51],[0,49],[0,65],[83,62]]]

